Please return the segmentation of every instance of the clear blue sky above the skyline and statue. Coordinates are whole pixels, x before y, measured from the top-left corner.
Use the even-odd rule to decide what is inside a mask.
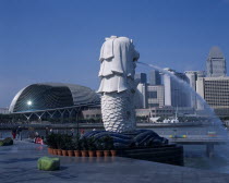
[[[33,83],[97,89],[110,35],[132,38],[142,62],[205,70],[212,46],[229,59],[229,0],[0,0],[0,107]]]

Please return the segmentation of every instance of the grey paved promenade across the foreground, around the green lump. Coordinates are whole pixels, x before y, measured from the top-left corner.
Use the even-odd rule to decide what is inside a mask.
[[[46,147],[26,142],[0,147],[1,183],[228,183],[229,174],[128,158],[61,157],[61,170],[37,170]]]

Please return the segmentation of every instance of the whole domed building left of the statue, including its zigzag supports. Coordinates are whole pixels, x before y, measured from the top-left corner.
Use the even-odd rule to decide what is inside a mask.
[[[75,118],[81,110],[99,108],[100,97],[91,88],[63,83],[38,83],[21,89],[13,98],[10,113],[29,119]]]

